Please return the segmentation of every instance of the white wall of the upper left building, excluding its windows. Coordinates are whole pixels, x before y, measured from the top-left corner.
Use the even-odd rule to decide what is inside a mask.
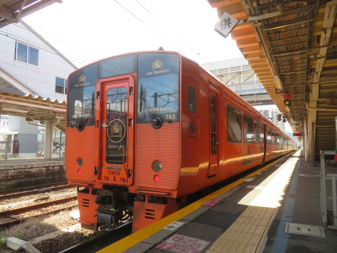
[[[55,78],[66,79],[75,68],[22,23],[9,24],[0,34],[8,35],[0,35],[0,66],[40,96],[65,101],[66,95],[55,92]],[[14,60],[16,40],[39,49],[38,66]]]

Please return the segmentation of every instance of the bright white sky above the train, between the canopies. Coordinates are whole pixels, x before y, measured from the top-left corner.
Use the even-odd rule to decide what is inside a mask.
[[[243,57],[207,0],[63,0],[23,20],[78,67],[159,47],[201,64]]]

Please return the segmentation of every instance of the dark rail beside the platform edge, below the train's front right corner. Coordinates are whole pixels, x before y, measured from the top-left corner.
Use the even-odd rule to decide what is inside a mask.
[[[100,234],[88,241],[85,241],[83,243],[77,244],[73,247],[70,247],[69,249],[63,250],[59,253],[84,253],[87,252],[90,248],[93,248],[97,244],[105,243],[112,239],[114,236],[120,236],[122,233],[130,232],[131,234],[131,228],[132,228],[132,221],[129,223],[126,223],[124,225],[121,225],[113,230],[107,231],[103,234]],[[126,237],[126,235],[125,235]]]

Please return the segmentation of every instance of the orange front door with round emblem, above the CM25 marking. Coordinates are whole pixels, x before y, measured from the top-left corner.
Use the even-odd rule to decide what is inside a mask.
[[[109,78],[101,84],[101,180],[132,183],[133,87],[134,79],[129,75]]]

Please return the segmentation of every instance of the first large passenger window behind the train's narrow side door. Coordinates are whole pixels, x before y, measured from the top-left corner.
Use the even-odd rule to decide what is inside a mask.
[[[241,142],[241,112],[230,105],[227,106],[227,140]]]

